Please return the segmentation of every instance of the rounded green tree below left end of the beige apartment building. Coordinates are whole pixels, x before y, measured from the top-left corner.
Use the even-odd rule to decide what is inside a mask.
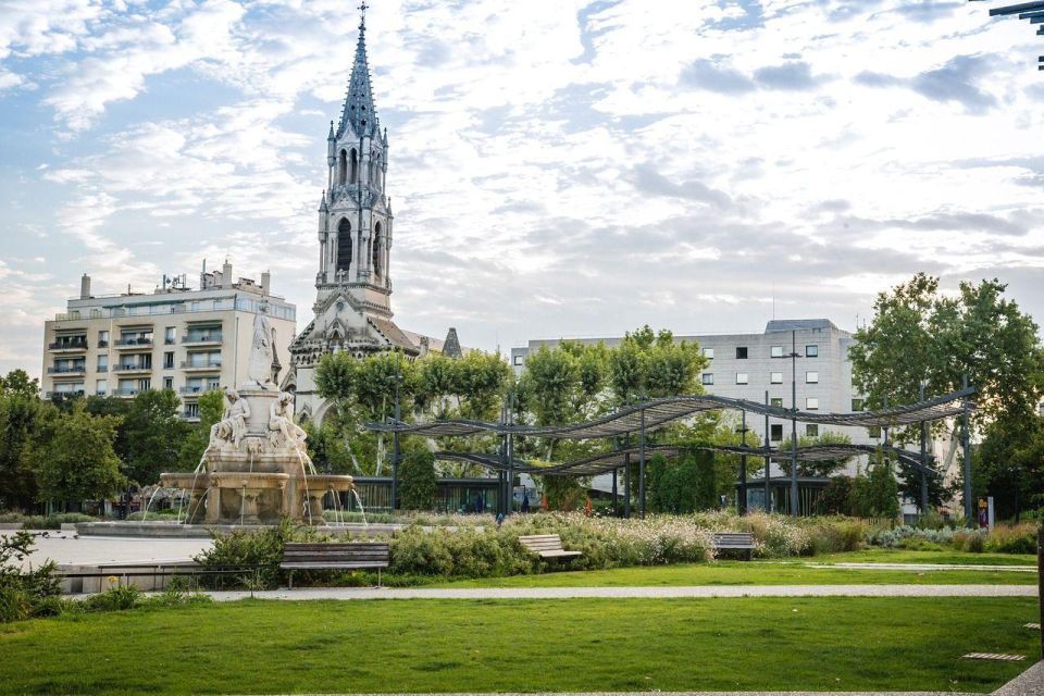
[[[38,499],[67,506],[119,492],[126,483],[113,449],[119,425],[115,417],[91,415],[82,402],[53,413],[28,452]]]

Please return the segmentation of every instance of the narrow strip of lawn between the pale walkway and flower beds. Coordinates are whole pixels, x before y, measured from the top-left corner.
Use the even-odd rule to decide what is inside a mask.
[[[438,587],[622,587],[687,585],[1035,585],[1036,573],[981,570],[849,570],[815,568],[813,559],[716,561],[549,572],[539,575],[483,577],[438,583]],[[843,561],[834,561],[843,562]],[[882,561],[883,562],[883,561]],[[927,562],[927,561],[925,561]],[[560,564],[568,569],[569,563]]]

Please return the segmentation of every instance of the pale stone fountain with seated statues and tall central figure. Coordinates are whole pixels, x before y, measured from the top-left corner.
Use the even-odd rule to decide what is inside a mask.
[[[351,476],[315,472],[307,435],[294,422],[294,395],[276,386],[272,332],[262,309],[253,320],[247,380],[224,389],[225,410],[210,428],[200,467],[160,476],[164,486],[188,490],[187,522],[324,524],[323,498],[352,490]]]

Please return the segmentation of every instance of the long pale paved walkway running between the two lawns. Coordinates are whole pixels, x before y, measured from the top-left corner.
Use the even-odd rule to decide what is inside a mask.
[[[304,587],[212,592],[217,601],[258,599],[671,599],[678,597],[1036,597],[1032,585],[713,585],[693,587]]]

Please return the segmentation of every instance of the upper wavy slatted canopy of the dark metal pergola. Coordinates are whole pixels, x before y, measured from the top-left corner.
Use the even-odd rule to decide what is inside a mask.
[[[673,421],[684,420],[701,413],[720,409],[759,413],[780,420],[794,420],[803,423],[822,423],[840,426],[880,426],[896,427],[927,421],[937,421],[960,414],[966,408],[974,408],[968,397],[975,393],[973,387],[960,389],[945,396],[907,406],[882,409],[880,411],[858,411],[855,413],[819,413],[785,409],[779,406],[758,403],[746,399],[733,399],[709,394],[672,396],[649,399],[634,406],[624,407],[608,415],[570,425],[510,425],[484,421],[447,420],[428,423],[366,423],[371,431],[403,433],[412,435],[459,436],[489,433],[496,435],[530,435],[540,437],[561,437],[567,439],[593,439],[635,433],[644,427],[646,432],[660,428]]]

